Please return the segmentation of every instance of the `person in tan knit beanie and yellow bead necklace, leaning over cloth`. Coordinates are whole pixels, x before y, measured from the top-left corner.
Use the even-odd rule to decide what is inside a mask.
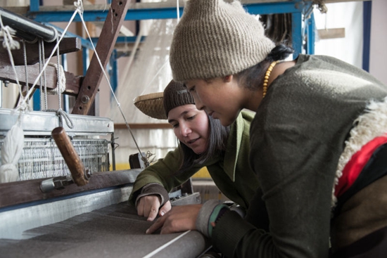
[[[187,2],[172,75],[224,126],[256,112],[250,166],[262,191],[246,220],[208,201],[196,214],[174,207],[148,233],[197,229],[226,257],[386,255],[387,86],[329,56],[281,61],[290,53],[237,1]]]

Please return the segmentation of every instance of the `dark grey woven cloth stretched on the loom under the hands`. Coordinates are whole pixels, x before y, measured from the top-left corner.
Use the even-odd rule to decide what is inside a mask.
[[[146,235],[151,224],[122,202],[26,231],[25,240],[0,240],[0,256],[145,257],[161,247],[152,257],[198,257],[209,246],[198,231]]]

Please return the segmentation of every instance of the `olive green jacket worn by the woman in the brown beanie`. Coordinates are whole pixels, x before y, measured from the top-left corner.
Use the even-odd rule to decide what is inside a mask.
[[[248,208],[250,198],[253,197],[259,185],[248,163],[249,130],[253,117],[253,112],[241,112],[236,122],[231,125],[224,157],[214,157],[204,164],[220,191],[245,209]],[[204,167],[192,167],[184,173],[177,174],[181,164],[182,156],[179,148],[176,148],[167,153],[163,159],[144,169],[134,182],[129,202],[133,204],[141,188],[148,183],[159,183],[169,192]]]

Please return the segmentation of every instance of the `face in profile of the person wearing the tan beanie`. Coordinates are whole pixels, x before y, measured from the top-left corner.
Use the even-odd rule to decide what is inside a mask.
[[[236,82],[229,77],[215,78],[209,82],[203,79],[192,79],[186,87],[194,96],[196,108],[206,110],[208,115],[219,119],[227,127],[232,124],[241,108],[241,91]]]

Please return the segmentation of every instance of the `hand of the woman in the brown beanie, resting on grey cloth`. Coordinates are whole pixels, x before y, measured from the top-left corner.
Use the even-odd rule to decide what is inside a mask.
[[[146,219],[147,221],[153,221],[157,217],[157,214],[163,216],[171,209],[171,202],[168,200],[159,211],[160,203],[160,196],[146,195],[140,198],[137,203],[137,214],[139,214],[139,216],[148,217],[148,219]]]

